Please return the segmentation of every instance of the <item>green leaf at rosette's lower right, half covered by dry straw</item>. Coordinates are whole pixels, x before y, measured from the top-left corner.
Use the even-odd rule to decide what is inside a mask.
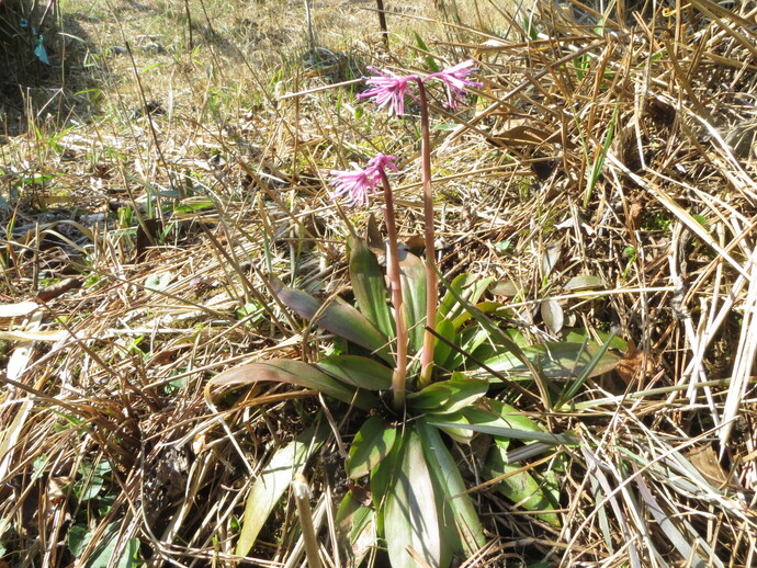
[[[520,467],[520,465],[509,465],[506,451],[493,444],[483,473],[489,479],[501,477],[501,481],[497,485],[499,492],[527,511],[556,509],[546,484],[539,482],[528,470],[519,472]],[[560,518],[556,513],[540,513],[536,516],[552,526],[560,526]]]

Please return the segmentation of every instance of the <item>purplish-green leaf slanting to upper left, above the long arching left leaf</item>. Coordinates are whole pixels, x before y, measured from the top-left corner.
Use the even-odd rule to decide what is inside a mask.
[[[305,292],[287,288],[275,280],[273,287],[279,299],[297,315],[309,319],[312,323],[336,333],[340,338],[376,353],[387,363],[394,363],[388,338],[349,304],[336,298],[324,308],[320,302]],[[313,321],[316,315],[318,315],[318,319]]]

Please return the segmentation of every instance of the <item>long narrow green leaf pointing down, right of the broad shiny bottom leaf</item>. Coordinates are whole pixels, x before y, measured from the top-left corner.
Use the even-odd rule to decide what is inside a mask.
[[[426,454],[426,463],[434,479],[436,492],[441,497],[441,518],[454,520],[454,523],[442,523],[444,538],[450,543],[456,543],[454,548],[470,557],[486,544],[484,527],[473,500],[465,492],[467,488],[463,477],[439,431],[419,420],[418,435]]]

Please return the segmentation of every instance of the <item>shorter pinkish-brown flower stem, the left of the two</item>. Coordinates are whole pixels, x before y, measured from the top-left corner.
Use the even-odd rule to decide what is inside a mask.
[[[403,310],[403,286],[399,276],[399,257],[397,248],[397,226],[395,225],[394,197],[386,172],[380,169],[381,181],[384,185],[384,203],[386,204],[386,234],[389,243],[386,251],[386,274],[392,288],[392,305],[394,306],[395,321],[397,323],[397,364],[392,374],[392,393],[394,394],[394,408],[402,410],[405,405],[405,386],[407,383],[407,342],[408,331]]]

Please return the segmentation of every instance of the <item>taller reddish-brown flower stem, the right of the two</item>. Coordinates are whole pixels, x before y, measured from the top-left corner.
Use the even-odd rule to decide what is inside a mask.
[[[418,96],[420,99],[420,156],[423,181],[423,217],[426,230],[426,333],[423,334],[423,350],[420,355],[420,387],[431,382],[433,371],[433,344],[437,329],[437,298],[439,296],[439,280],[437,279],[434,232],[433,232],[433,190],[431,188],[431,135],[429,128],[429,107],[423,81],[418,79]]]

